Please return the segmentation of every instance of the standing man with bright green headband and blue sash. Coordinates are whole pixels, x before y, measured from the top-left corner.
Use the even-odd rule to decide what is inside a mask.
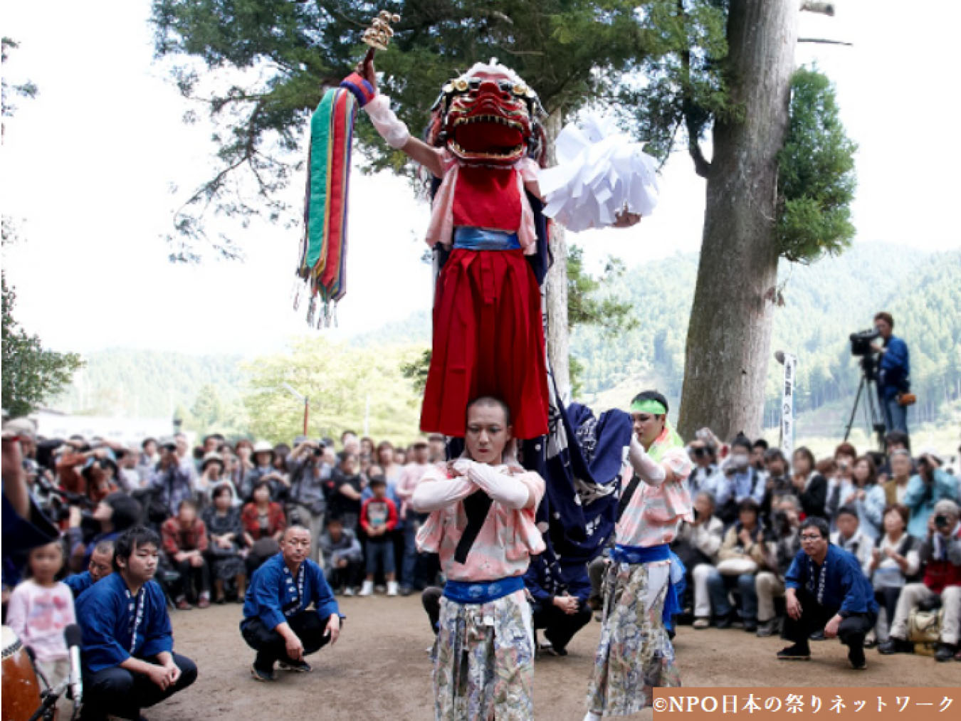
[[[664,623],[680,610],[668,545],[679,521],[694,520],[684,483],[691,460],[667,421],[663,395],[638,393],[630,411],[634,437],[628,460],[640,483],[615,529],[616,545],[604,576],[604,625],[584,721],[636,713],[651,703],[652,686],[680,685]]]

